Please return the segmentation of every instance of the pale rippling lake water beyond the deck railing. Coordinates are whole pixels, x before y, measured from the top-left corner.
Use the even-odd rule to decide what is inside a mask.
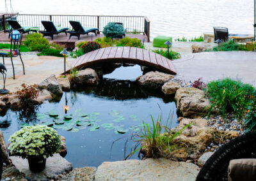
[[[150,19],[150,35],[200,36],[213,26],[229,33],[253,34],[253,0],[12,0],[13,11],[29,14],[141,15]],[[3,4],[3,6],[2,6]],[[4,1],[0,0],[0,12]]]

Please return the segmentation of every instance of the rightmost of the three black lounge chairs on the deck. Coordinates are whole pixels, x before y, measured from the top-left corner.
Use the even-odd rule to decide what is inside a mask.
[[[95,36],[97,36],[97,31],[99,31],[98,28],[93,27],[83,27],[80,22],[76,21],[69,21],[70,25],[72,25],[72,31],[68,31],[70,33],[69,39],[72,36],[77,36],[78,40],[80,40],[81,34],[87,34],[88,33],[95,33]]]

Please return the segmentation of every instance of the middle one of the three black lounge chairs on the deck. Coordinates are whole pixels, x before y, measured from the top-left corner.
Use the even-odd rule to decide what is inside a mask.
[[[53,40],[54,34],[65,33],[67,35],[67,27],[56,27],[52,21],[42,21],[44,31],[40,31],[44,36],[50,36]]]

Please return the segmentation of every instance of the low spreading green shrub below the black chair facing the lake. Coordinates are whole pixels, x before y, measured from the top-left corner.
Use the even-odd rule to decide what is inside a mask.
[[[225,43],[220,43],[220,46],[213,47],[212,50],[207,50],[207,51],[213,51],[213,52],[218,52],[218,51],[244,51],[246,50],[245,45],[238,44],[232,40],[229,40],[228,42]]]

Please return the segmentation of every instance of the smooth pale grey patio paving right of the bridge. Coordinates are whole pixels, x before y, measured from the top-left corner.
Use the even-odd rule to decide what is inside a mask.
[[[188,54],[173,61],[177,78],[195,81],[202,77],[205,82],[218,78],[241,79],[256,87],[256,52],[203,52]]]

